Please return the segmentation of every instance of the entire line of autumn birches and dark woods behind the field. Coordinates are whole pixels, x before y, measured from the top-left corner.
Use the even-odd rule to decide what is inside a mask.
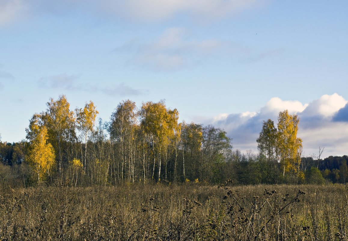
[[[346,183],[348,156],[302,156],[299,118],[279,112],[260,130],[258,153],[232,148],[226,131],[178,123],[179,111],[164,101],[141,108],[118,104],[110,120],[97,120],[92,101],[70,110],[64,95],[32,116],[26,140],[0,140],[0,182],[31,186],[69,181],[72,186],[133,182],[217,184]]]

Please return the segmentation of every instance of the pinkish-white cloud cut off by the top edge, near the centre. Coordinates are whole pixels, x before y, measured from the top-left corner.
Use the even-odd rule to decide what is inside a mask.
[[[262,4],[260,0],[103,0],[104,11],[130,20],[162,21],[178,14],[189,14],[199,20],[222,18]]]

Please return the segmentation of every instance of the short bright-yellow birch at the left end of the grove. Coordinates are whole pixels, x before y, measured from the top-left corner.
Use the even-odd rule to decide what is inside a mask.
[[[37,135],[30,141],[26,157],[26,161],[32,166],[38,182],[44,178],[45,174],[49,175],[55,161],[54,149],[50,143],[47,143],[47,139],[46,127],[39,127]]]

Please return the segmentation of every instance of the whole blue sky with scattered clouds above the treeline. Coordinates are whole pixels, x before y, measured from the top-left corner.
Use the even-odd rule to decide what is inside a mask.
[[[25,138],[64,94],[109,120],[122,100],[165,100],[234,148],[279,111],[303,155],[348,154],[348,1],[0,0],[1,140]]]

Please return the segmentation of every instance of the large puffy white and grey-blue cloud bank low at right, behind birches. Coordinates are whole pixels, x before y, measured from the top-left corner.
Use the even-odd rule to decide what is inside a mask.
[[[285,109],[300,117],[298,137],[303,141],[304,156],[317,154],[319,147],[325,147],[322,157],[348,155],[348,101],[337,93],[306,104],[275,97],[258,112],[221,114],[204,124],[226,130],[235,148],[257,152],[262,122],[272,119],[276,125],[279,111]]]

